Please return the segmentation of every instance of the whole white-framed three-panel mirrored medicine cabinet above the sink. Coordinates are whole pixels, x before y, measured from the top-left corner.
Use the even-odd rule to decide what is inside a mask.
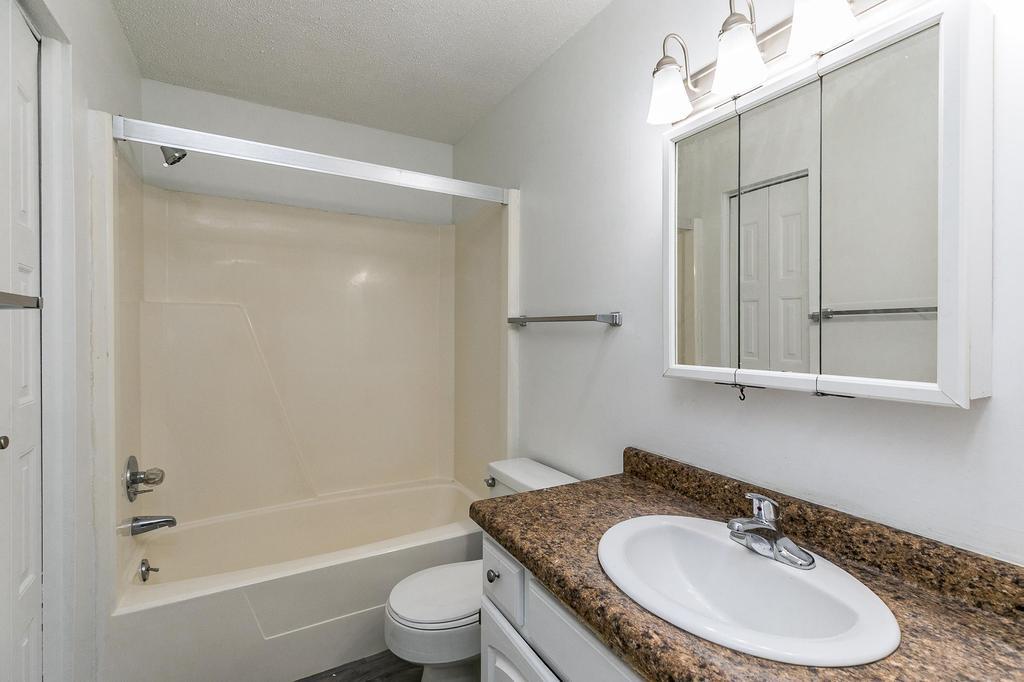
[[[922,5],[666,134],[666,376],[991,395],[991,18]]]

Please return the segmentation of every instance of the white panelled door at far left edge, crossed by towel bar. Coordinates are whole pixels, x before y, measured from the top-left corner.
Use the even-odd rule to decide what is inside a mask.
[[[0,36],[0,291],[39,296],[39,43],[13,0]],[[0,675],[14,682],[42,678],[39,349],[39,311],[0,309]]]

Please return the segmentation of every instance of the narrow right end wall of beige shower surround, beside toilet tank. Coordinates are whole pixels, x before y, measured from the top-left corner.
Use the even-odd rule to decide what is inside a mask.
[[[506,457],[508,209],[455,226],[455,476],[481,497],[487,463]]]

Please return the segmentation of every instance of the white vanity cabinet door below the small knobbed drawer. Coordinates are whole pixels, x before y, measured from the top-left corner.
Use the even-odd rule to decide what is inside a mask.
[[[486,597],[480,608],[480,665],[483,682],[558,682]]]

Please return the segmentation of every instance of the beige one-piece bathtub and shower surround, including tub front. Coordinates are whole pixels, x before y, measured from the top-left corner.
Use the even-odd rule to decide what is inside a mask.
[[[110,152],[115,453],[97,489],[121,492],[97,500],[179,525],[100,557],[101,675],[137,672],[117,652],[139,636],[162,642],[147,670],[166,680],[293,679],[383,650],[395,583],[479,556],[468,508],[505,446],[506,209],[438,225],[171,191]],[[167,471],[134,504],[116,482],[129,455]],[[161,569],[145,584],[143,556]]]

